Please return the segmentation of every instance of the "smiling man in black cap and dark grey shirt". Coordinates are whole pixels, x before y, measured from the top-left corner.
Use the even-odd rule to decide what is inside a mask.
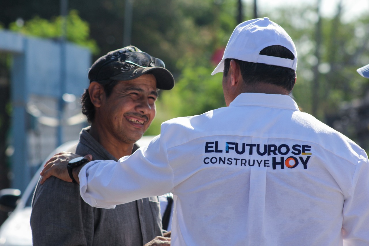
[[[172,89],[173,75],[160,59],[128,46],[100,57],[88,78],[82,112],[91,126],[69,151],[96,160],[130,155],[155,117],[157,90]],[[78,184],[57,178],[37,185],[31,228],[34,245],[142,246],[163,236],[158,197],[94,208],[80,197]]]

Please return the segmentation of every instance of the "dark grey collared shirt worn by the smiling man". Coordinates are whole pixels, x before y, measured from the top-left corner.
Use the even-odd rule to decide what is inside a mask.
[[[94,160],[116,160],[82,129],[79,143],[68,150]],[[135,145],[132,153],[137,150]],[[162,235],[158,197],[94,208],[80,197],[79,185],[51,177],[35,189],[32,200],[33,245],[129,245],[142,246]]]

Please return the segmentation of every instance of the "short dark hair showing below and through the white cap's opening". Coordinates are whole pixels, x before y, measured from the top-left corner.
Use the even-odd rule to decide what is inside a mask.
[[[269,55],[272,57],[282,57],[294,59],[292,52],[281,45],[272,45],[263,48],[260,55]],[[291,92],[296,80],[296,72],[291,68],[283,66],[266,65],[262,63],[246,62],[237,59],[224,59],[223,76],[227,76],[231,60],[234,60],[239,65],[242,79],[245,84],[252,84],[258,82],[271,83],[273,85],[282,86],[288,92]]]

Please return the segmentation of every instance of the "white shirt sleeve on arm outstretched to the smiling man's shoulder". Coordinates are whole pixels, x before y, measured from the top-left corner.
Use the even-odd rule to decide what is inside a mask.
[[[91,161],[79,172],[83,200],[97,208],[114,208],[145,197],[165,194],[173,188],[173,170],[160,135],[149,146],[117,162]]]

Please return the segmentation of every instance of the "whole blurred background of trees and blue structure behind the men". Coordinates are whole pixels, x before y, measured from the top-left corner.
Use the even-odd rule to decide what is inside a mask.
[[[175,76],[146,135],[172,117],[225,106],[222,75],[211,71],[234,27],[255,17],[269,17],[296,44],[300,109],[368,149],[369,79],[356,72],[369,63],[368,13],[367,0],[2,2],[0,189],[23,190],[50,151],[78,138],[88,68],[108,51],[135,45]]]

